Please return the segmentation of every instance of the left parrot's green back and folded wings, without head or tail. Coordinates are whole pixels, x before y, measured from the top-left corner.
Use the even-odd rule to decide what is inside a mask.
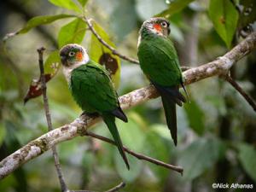
[[[102,113],[119,107],[108,71],[94,61],[73,69],[70,90],[85,112]]]

